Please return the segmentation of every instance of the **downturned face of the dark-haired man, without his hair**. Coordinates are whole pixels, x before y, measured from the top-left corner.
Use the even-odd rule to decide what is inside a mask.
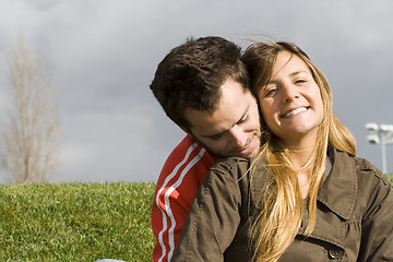
[[[254,96],[227,80],[221,87],[222,99],[213,112],[188,108],[190,134],[214,155],[253,157],[260,148],[260,118]]]

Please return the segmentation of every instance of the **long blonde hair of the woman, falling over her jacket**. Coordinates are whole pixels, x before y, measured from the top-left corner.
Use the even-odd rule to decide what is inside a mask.
[[[308,222],[305,230],[310,235],[317,221],[317,195],[323,179],[327,146],[356,155],[356,143],[347,128],[333,114],[332,91],[323,73],[311,62],[298,46],[291,43],[254,43],[242,56],[250,73],[251,86],[255,94],[272,76],[272,69],[281,51],[289,51],[300,58],[310,69],[318,84],[324,109],[323,120],[318,131],[317,145],[303,168],[311,168],[309,188]],[[255,95],[257,96],[257,95]],[[258,97],[258,96],[257,96]],[[264,162],[272,179],[263,190],[263,210],[250,230],[257,261],[277,261],[295,239],[301,225],[303,200],[297,179],[297,171],[290,160],[288,150],[262,121],[262,147],[257,162]],[[253,165],[254,166],[254,165]]]

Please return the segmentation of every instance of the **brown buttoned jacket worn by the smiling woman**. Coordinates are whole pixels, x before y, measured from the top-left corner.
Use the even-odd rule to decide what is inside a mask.
[[[330,151],[332,169],[318,194],[317,225],[298,235],[278,261],[393,261],[393,195],[369,162]],[[247,233],[261,210],[262,164],[228,158],[212,168],[195,196],[172,261],[250,261]],[[306,209],[307,210],[307,209]]]

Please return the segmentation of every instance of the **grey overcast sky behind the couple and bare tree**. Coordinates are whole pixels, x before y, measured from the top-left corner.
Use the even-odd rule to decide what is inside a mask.
[[[0,0],[0,98],[21,28],[60,96],[63,171],[51,180],[155,181],[184,135],[148,88],[158,62],[190,36],[243,48],[267,36],[311,57],[358,155],[382,168],[365,124],[393,124],[392,13],[391,0]],[[393,172],[393,145],[386,155]]]

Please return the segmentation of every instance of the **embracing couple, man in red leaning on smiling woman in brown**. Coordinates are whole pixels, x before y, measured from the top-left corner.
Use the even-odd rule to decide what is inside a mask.
[[[154,261],[393,261],[391,184],[299,47],[190,39],[151,90],[188,133],[157,181]]]

